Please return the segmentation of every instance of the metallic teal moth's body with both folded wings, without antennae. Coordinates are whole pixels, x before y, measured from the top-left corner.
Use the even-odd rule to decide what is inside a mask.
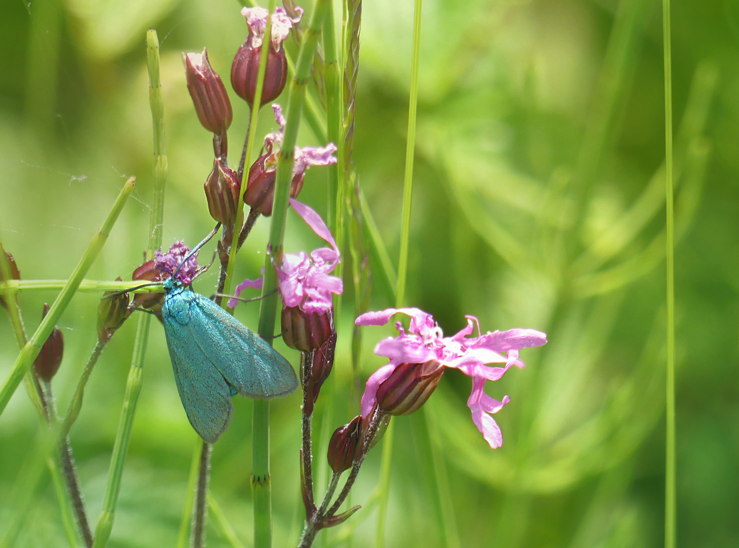
[[[190,424],[214,443],[231,420],[231,396],[269,398],[298,387],[287,360],[231,314],[175,283],[162,308],[177,390]]]

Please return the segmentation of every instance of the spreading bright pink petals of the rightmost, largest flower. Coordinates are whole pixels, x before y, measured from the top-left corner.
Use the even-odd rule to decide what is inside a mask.
[[[375,346],[375,354],[386,356],[390,362],[379,368],[367,380],[361,400],[362,415],[367,418],[375,407],[377,390],[381,382],[402,363],[423,364],[436,360],[446,368],[455,368],[472,378],[472,391],[467,405],[472,421],[483,434],[486,442],[496,449],[503,444],[500,427],[491,416],[510,401],[508,396],[498,402],[485,391],[486,381],[497,381],[512,365],[524,366],[518,359],[521,348],[545,345],[547,337],[534,329],[511,329],[480,334],[480,324],[474,316],[466,316],[467,327],[454,336],[445,337],[431,314],[418,308],[387,308],[384,311],[367,312],[355,320],[356,325],[384,325],[397,313],[411,317],[408,332],[401,322],[396,322],[400,335],[388,337]],[[474,333],[480,336],[469,336]],[[505,353],[505,356],[503,356]],[[502,363],[503,367],[488,367],[487,364]]]

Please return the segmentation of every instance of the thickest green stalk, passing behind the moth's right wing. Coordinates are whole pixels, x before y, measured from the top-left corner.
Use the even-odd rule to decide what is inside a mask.
[[[285,237],[285,220],[290,198],[290,180],[293,177],[293,154],[298,137],[300,118],[305,99],[305,89],[310,78],[310,65],[316,53],[324,15],[330,0],[316,0],[310,24],[304,35],[287,102],[285,134],[277,157],[274,204],[268,249],[265,257],[265,283],[259,308],[259,335],[271,342],[274,335],[277,312],[277,274],[282,263],[282,242]],[[274,260],[275,266],[272,265]],[[272,544],[272,508],[270,487],[270,402],[255,400],[252,422],[252,476],[254,511],[254,547],[269,548]]]

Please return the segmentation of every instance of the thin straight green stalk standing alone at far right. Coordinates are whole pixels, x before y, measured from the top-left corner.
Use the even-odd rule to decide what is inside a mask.
[[[664,546],[675,548],[675,218],[672,158],[672,38],[670,0],[662,0],[664,50],[664,165],[667,200],[667,432],[664,470]]]

